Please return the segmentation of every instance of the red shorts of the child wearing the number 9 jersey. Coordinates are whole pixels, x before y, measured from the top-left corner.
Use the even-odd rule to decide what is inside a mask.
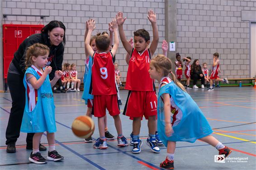
[[[93,107],[95,117],[105,116],[106,109],[109,111],[109,115],[111,116],[120,114],[120,109],[117,101],[117,94],[94,95]]]

